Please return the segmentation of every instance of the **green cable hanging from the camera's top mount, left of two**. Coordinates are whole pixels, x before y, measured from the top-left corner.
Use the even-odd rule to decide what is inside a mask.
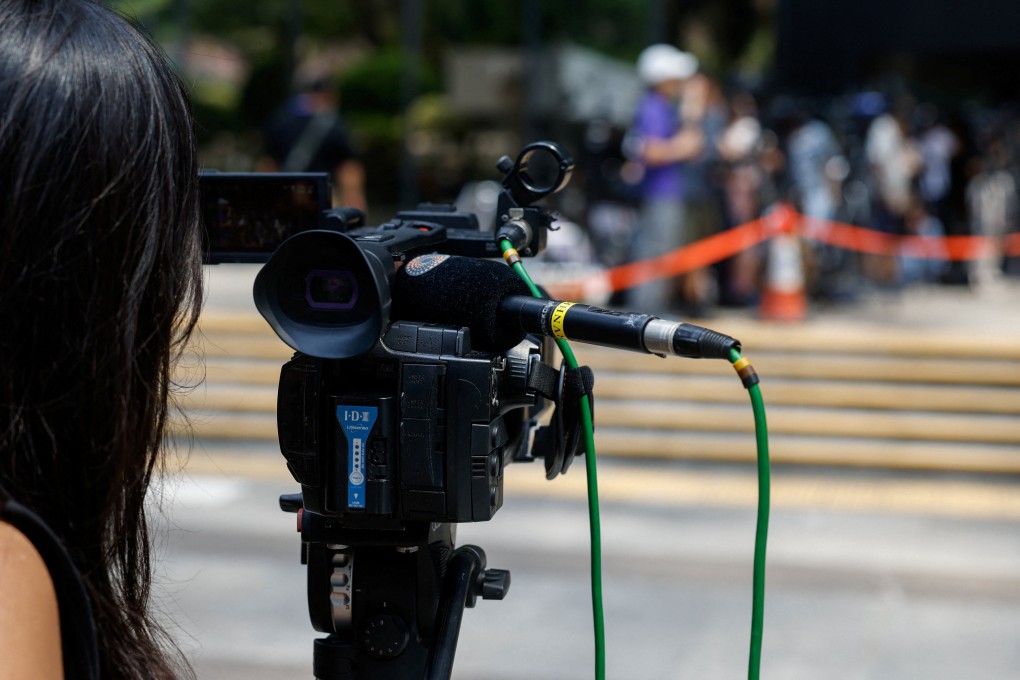
[[[513,245],[507,241],[500,242],[500,248],[506,255],[507,251],[514,250]],[[516,251],[514,251],[516,252]],[[510,259],[508,258],[509,262]],[[539,286],[531,280],[522,262],[517,259],[511,264],[517,275],[527,284],[531,295],[536,298],[545,298]],[[563,360],[570,369],[577,368],[577,359],[574,357],[570,344],[565,338],[557,337],[556,345],[560,348]],[[588,478],[588,519],[591,528],[592,545],[592,615],[595,623],[595,677],[596,680],[605,680],[606,677],[606,622],[602,613],[602,522],[599,519],[599,479],[595,465],[595,425],[592,421],[592,405],[588,401],[588,396],[580,398],[580,421],[581,429],[584,433],[584,471]]]

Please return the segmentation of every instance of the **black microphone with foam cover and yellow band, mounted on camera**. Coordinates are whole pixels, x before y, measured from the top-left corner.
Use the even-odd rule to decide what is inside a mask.
[[[506,265],[452,255],[422,255],[397,272],[393,318],[467,326],[475,347],[496,352],[527,333],[693,359],[728,360],[741,349],[738,341],[692,323],[534,298]]]

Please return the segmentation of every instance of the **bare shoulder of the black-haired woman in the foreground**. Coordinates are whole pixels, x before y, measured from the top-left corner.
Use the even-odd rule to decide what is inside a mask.
[[[57,595],[24,534],[0,521],[0,678],[63,678]]]

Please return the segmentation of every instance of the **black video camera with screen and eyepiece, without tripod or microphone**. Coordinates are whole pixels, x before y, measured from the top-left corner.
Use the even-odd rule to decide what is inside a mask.
[[[573,161],[541,142],[498,167],[498,214],[526,233],[520,253],[536,255],[552,215],[531,203],[565,186]],[[496,233],[436,205],[365,226],[357,211],[321,209],[325,175],[207,173],[201,182],[208,260],[265,263],[256,306],[297,351],[280,372],[277,430],[305,526],[328,527],[322,540],[338,542],[338,529],[491,519],[506,465],[531,460],[547,404],[528,378],[549,343],[527,337],[494,352],[473,347],[466,328],[413,312],[391,319],[391,283],[423,253],[499,257]],[[318,540],[313,531],[304,533]]]

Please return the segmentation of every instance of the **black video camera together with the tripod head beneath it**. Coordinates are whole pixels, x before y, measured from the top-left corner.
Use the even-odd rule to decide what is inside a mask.
[[[449,677],[463,608],[509,587],[480,548],[454,550],[453,524],[494,516],[507,464],[541,456],[552,478],[580,451],[557,408],[577,381],[550,365],[550,341],[502,326],[469,295],[520,292],[508,267],[504,278],[476,263],[500,256],[500,238],[543,251],[553,215],[533,204],[573,161],[539,142],[497,167],[496,232],[445,205],[366,226],[329,209],[325,175],[201,177],[209,261],[265,262],[256,307],[296,351],[277,428],[301,493],[280,505],[299,514],[309,613],[328,634],[317,678]],[[460,302],[421,315],[426,280]]]

